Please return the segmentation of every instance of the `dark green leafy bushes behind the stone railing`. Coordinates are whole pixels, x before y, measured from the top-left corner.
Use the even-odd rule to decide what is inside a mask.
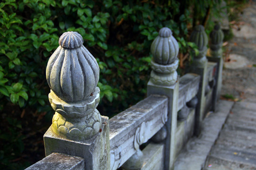
[[[192,26],[218,16],[220,0],[3,0],[0,3],[0,169],[22,170],[44,157],[43,134],[54,111],[46,64],[66,31],[76,31],[97,59],[102,115],[146,95],[150,45],[160,28],[173,31],[181,68],[189,63]],[[211,13],[210,13],[211,12]],[[206,25],[206,23],[208,23]],[[184,57],[185,56],[185,57]],[[182,74],[184,69],[179,68]]]

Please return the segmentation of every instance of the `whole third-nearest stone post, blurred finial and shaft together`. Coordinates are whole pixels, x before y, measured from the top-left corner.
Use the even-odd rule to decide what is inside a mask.
[[[197,93],[198,104],[196,106],[195,113],[195,129],[194,133],[198,136],[201,132],[201,122],[204,117],[204,105],[205,105],[205,89],[208,85],[207,82],[207,44],[208,37],[204,31],[203,26],[196,26],[190,36],[190,42],[194,42],[198,46],[199,54],[193,59],[190,72],[201,76],[199,91]]]

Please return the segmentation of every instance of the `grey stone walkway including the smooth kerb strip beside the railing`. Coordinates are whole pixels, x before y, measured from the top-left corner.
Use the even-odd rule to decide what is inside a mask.
[[[244,9],[233,34],[221,94],[237,102],[219,101],[174,170],[256,170],[256,2]]]

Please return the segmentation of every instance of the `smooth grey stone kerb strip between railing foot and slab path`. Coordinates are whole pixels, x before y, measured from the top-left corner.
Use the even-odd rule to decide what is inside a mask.
[[[217,112],[210,114],[202,122],[201,136],[188,141],[174,164],[174,170],[201,170],[211,146],[219,135],[233,102],[220,101]]]

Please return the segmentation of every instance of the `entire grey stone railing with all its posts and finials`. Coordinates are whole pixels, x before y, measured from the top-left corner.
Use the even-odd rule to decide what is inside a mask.
[[[210,34],[211,56],[206,57],[203,26],[195,28],[190,41],[197,44],[199,54],[190,73],[179,77],[178,43],[169,28],[162,28],[151,45],[148,97],[109,120],[96,109],[97,61],[82,45],[80,34],[64,33],[46,68],[49,101],[55,110],[44,135],[46,158],[27,170],[172,169],[183,145],[200,135],[206,112],[215,110],[221,87],[219,25]]]

